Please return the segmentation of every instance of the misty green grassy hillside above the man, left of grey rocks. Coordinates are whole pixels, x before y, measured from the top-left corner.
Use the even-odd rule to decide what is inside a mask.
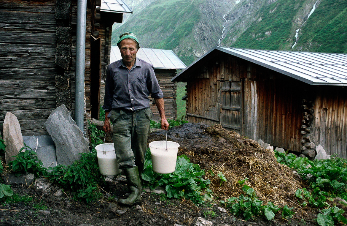
[[[140,46],[156,49],[176,49],[176,54],[185,63],[194,61],[186,50],[178,50],[182,43],[191,42],[192,29],[200,20],[200,12],[195,10],[202,0],[159,0],[146,7],[136,18],[130,19],[124,26],[112,31],[120,34],[130,31],[141,38]],[[116,45],[118,37],[112,36],[112,45]]]

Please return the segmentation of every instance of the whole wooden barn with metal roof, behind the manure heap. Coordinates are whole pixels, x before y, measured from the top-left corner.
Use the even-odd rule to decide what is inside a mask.
[[[221,124],[274,147],[347,156],[347,54],[214,47],[186,82],[189,122]]]

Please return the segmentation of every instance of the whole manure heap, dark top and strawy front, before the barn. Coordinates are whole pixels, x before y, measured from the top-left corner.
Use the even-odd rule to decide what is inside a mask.
[[[148,142],[165,139],[165,131],[156,131],[150,134]],[[254,189],[257,199],[280,207],[293,206],[295,191],[302,188],[291,169],[277,163],[273,151],[220,125],[185,123],[169,129],[167,140],[179,143],[178,155],[187,155],[206,171],[205,179],[211,180],[210,188],[219,200],[243,194],[238,181],[245,178],[248,178],[245,184]],[[211,176],[209,170],[215,175]],[[219,171],[227,179],[222,184],[217,176]]]

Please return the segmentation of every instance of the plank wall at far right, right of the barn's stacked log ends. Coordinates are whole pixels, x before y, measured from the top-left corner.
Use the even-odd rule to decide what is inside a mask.
[[[314,138],[329,155],[347,158],[347,90],[344,87],[315,88]]]

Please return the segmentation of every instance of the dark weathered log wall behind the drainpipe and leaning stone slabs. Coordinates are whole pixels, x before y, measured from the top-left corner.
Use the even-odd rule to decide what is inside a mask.
[[[95,1],[87,5],[85,131]],[[47,135],[44,123],[57,106],[65,104],[74,118],[77,1],[3,0],[0,21],[0,130],[12,112],[23,135]]]

